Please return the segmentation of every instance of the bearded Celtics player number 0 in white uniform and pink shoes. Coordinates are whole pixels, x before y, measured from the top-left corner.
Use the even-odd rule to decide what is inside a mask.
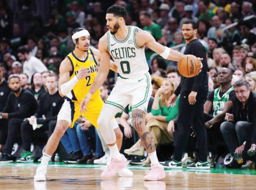
[[[147,104],[152,93],[149,67],[145,57],[145,45],[164,59],[179,61],[184,54],[167,48],[154,39],[147,31],[135,26],[125,25],[125,8],[112,5],[106,14],[109,31],[99,40],[100,68],[87,96],[81,102],[81,111],[86,110],[90,97],[103,84],[109,73],[110,57],[117,65],[120,77],[107,98],[97,124],[110,149],[110,165],[101,174],[104,178],[112,177],[127,165],[124,155],[120,154],[116,145],[110,121],[116,113],[132,102],[132,122],[143,142],[151,160],[151,171],[144,180],[159,180],[166,176],[164,168],[159,164],[156,148],[150,132],[145,127]],[[168,103],[167,103],[168,104]]]

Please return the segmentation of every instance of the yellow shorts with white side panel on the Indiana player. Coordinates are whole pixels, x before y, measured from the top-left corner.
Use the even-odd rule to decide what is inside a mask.
[[[87,112],[80,114],[80,104],[81,101],[73,101],[69,98],[65,98],[63,106],[58,113],[57,120],[66,120],[69,122],[71,128],[73,128],[75,121],[79,118],[80,115],[84,116],[93,126],[99,128],[97,125],[97,119],[99,118],[100,111],[104,105],[102,99],[96,98],[89,101],[87,104]]]

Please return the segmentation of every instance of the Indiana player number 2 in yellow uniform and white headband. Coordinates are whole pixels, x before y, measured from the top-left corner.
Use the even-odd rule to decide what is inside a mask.
[[[97,74],[97,62],[100,61],[100,53],[97,49],[90,49],[90,34],[87,30],[77,28],[72,32],[72,40],[75,44],[73,52],[60,64],[59,93],[65,96],[65,101],[58,113],[56,128],[46,144],[46,150],[40,166],[34,176],[35,181],[45,181],[47,165],[51,156],[56,151],[60,138],[68,127],[73,127],[75,120],[81,115],[80,104],[88,93]],[[114,62],[110,63],[110,69],[116,71]],[[100,98],[100,90],[97,90],[90,98],[88,111],[82,115],[96,128],[97,119],[104,103]],[[119,140],[121,148],[122,132],[115,119],[111,120],[111,126]],[[132,172],[125,168],[121,176],[131,176]]]

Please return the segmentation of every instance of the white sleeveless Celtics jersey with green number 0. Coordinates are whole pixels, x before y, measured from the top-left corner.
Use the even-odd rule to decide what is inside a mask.
[[[149,71],[145,57],[145,48],[139,48],[135,42],[135,29],[129,26],[128,36],[124,41],[118,41],[107,31],[108,52],[117,65],[117,72],[122,78],[136,78]]]

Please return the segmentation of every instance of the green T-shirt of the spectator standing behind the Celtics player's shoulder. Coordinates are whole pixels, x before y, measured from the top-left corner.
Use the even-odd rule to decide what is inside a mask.
[[[144,26],[143,30],[148,31],[155,38],[156,41],[158,41],[162,37],[162,30],[160,26],[156,23],[153,23],[153,25],[151,25],[150,27]],[[154,52],[151,49],[145,50],[146,60],[149,60],[150,56],[153,53]]]

